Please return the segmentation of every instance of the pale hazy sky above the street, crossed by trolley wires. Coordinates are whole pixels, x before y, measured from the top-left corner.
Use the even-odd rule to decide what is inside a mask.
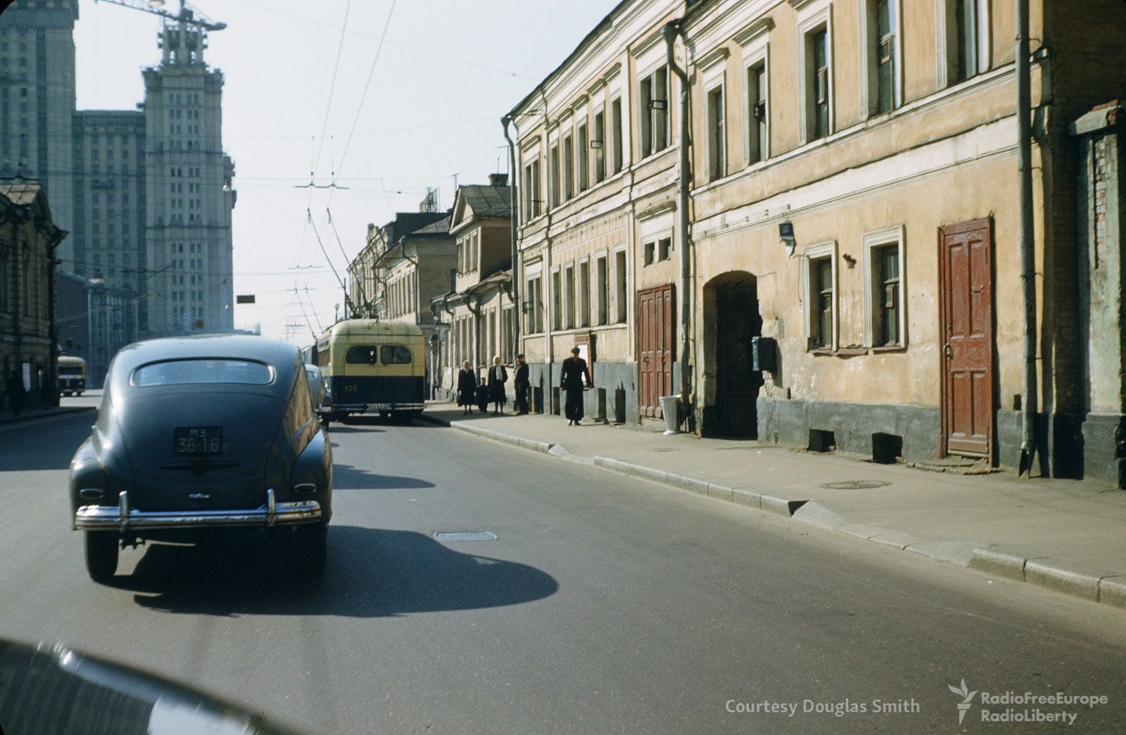
[[[234,325],[260,322],[263,335],[309,344],[306,315],[319,331],[342,303],[316,233],[343,278],[368,222],[417,211],[427,187],[439,188],[443,207],[450,206],[455,175],[461,184],[483,184],[489,174],[507,171],[501,115],[617,0],[571,0],[565,11],[543,0],[396,0],[393,9],[392,0],[193,5],[227,24],[211,33],[205,57],[225,78],[223,144],[235,161],[239,193],[234,291],[257,296],[256,304],[236,307]],[[166,8],[175,12],[177,0]],[[133,109],[144,98],[141,70],[160,60],[160,23],[148,12],[80,1],[79,109]],[[348,188],[295,188],[310,183],[314,161],[318,185],[336,172],[337,185]]]

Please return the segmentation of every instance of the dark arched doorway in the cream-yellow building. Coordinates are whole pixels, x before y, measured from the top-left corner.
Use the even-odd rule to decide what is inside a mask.
[[[762,387],[762,373],[752,370],[751,353],[751,338],[762,334],[758,281],[741,272],[717,276],[704,287],[704,309],[705,320],[714,325],[705,335],[711,343],[707,372],[714,375],[715,392],[701,428],[712,436],[754,439],[756,400]]]

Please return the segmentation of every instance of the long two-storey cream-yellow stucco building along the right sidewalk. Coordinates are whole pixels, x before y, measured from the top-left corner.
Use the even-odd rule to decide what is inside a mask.
[[[1117,450],[1084,441],[1069,124],[1126,95],[1126,8],[1029,6],[1039,469],[1078,476]],[[591,414],[682,392],[705,435],[1016,466],[1016,32],[992,0],[620,2],[510,113],[534,384],[587,343]]]

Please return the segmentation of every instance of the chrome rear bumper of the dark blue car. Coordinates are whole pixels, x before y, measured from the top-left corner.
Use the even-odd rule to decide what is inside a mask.
[[[316,501],[275,503],[267,490],[266,505],[252,511],[135,511],[127,492],[118,495],[119,505],[83,505],[74,512],[78,531],[141,531],[148,529],[269,528],[316,523],[321,504]]]

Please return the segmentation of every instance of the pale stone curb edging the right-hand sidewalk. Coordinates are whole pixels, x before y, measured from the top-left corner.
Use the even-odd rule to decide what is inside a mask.
[[[437,416],[427,416],[426,414],[421,418],[431,424],[449,426],[521,449],[553,454],[561,459],[575,459],[561,444],[534,442],[471,426],[463,422],[450,422]],[[624,462],[609,457],[595,457],[592,463],[595,467],[620,475],[661,482],[662,485],[689,490],[697,495],[706,495],[729,503],[759,508],[830,531],[847,533],[865,541],[872,541],[894,549],[911,551],[938,561],[946,561],[983,572],[995,577],[1003,577],[1015,582],[1027,582],[1090,602],[1099,602],[1126,609],[1126,574],[1106,569],[1084,568],[1066,563],[1056,564],[1052,563],[1047,557],[1025,556],[1019,551],[995,543],[960,540],[920,540],[908,533],[891,531],[865,523],[852,523],[843,515],[821,505],[816,501],[787,499],[772,495],[763,495],[747,488],[707,482],[698,478]]]

